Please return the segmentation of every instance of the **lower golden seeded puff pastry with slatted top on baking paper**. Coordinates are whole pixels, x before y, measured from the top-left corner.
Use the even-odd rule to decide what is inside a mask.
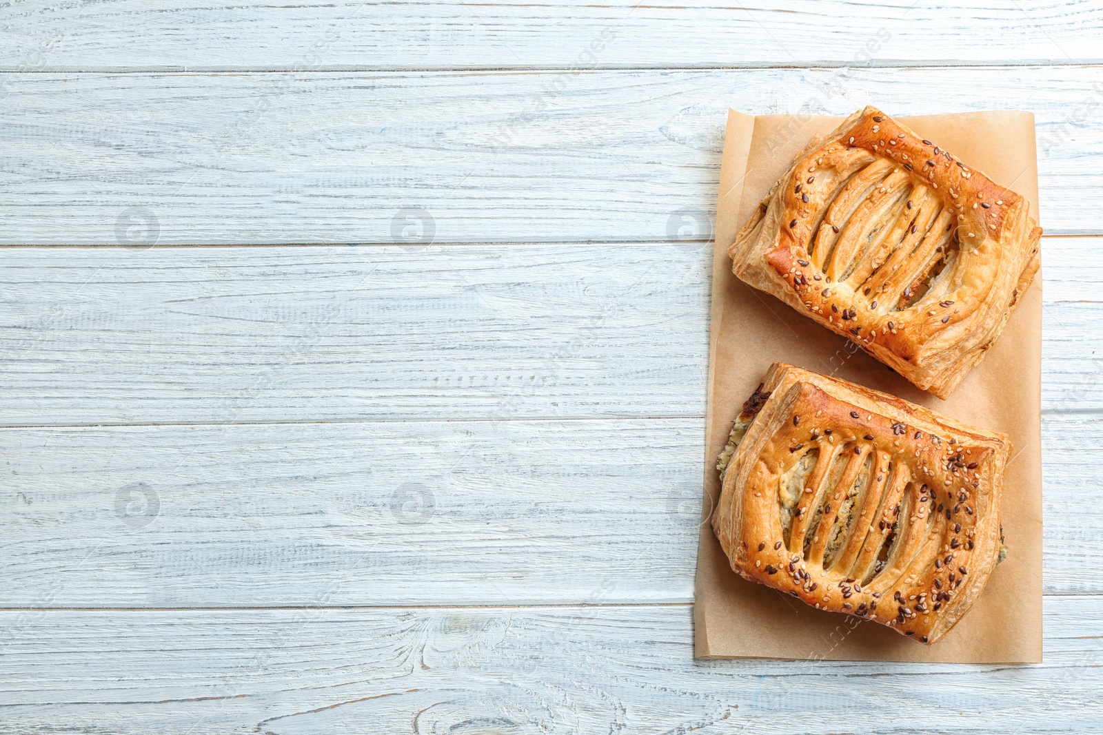
[[[1002,559],[1010,451],[1003,434],[774,363],[720,455],[713,530],[745,579],[933,644]]]

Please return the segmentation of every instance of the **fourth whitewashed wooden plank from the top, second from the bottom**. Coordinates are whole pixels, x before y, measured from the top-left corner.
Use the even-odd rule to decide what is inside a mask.
[[[1084,501],[1101,428],[1043,426],[1049,593],[1103,592]],[[0,607],[685,603],[703,436],[702,419],[6,429]]]

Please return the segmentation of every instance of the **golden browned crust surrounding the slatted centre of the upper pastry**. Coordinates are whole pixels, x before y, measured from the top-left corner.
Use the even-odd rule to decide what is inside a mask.
[[[882,171],[892,173],[885,180],[886,185],[879,190],[875,186],[855,212],[872,218],[870,213],[878,206],[891,204],[891,186],[920,191],[921,185],[924,196],[941,202],[947,221],[945,230],[940,231],[964,244],[955,247],[954,270],[945,277],[952,298],[912,300],[931,268],[949,262],[942,246],[919,255],[922,234],[912,242],[907,231],[901,233],[898,249],[904,259],[892,261],[898,269],[895,272],[908,271],[908,258],[929,259],[931,267],[917,269],[902,287],[892,284],[881,299],[876,289],[863,291],[861,284],[832,280],[831,268],[824,263],[817,267],[816,258],[810,255],[817,237],[823,240],[825,225],[832,226],[824,215],[829,212],[832,192],[817,190],[814,181],[821,169],[831,173],[832,166],[877,161],[886,162]],[[907,216],[917,216],[911,212],[910,198],[908,203]],[[891,206],[885,209],[891,210]],[[837,226],[834,231],[838,233]],[[933,226],[928,236],[933,244],[938,236]],[[945,398],[990,347],[1019,294],[1030,287],[1038,270],[1040,236],[1041,229],[1028,216],[1027,202],[1018,194],[956,160],[936,143],[919,138],[880,110],[867,107],[826,139],[813,141],[797,156],[748,219],[729,255],[733,272],[742,280],[848,337],[920,388]],[[838,235],[834,241],[842,238]],[[885,238],[890,240],[888,235]],[[903,252],[913,245],[913,255]],[[879,260],[876,252],[865,257],[888,271],[893,244],[887,241],[881,247],[884,259]],[[900,288],[902,295],[897,293]]]

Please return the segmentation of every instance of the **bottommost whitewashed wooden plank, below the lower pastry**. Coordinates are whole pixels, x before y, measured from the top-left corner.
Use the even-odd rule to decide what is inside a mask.
[[[1048,597],[1046,662],[1010,668],[694,661],[687,606],[11,610],[2,729],[1097,732],[1101,602]]]

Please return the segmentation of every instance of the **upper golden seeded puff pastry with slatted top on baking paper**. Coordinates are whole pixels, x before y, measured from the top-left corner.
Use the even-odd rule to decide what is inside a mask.
[[[750,285],[945,398],[1034,280],[1029,209],[867,107],[796,156],[728,255]]]

